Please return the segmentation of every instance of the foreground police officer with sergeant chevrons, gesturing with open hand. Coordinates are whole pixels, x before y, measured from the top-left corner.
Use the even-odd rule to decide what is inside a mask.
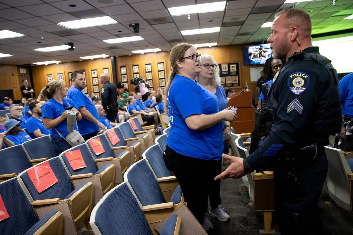
[[[270,134],[246,159],[223,154],[231,165],[215,180],[240,178],[271,164],[281,234],[322,234],[318,200],[328,167],[324,146],[341,130],[337,73],[312,46],[311,20],[304,10],[277,13],[268,42],[273,57],[287,61],[268,94]]]

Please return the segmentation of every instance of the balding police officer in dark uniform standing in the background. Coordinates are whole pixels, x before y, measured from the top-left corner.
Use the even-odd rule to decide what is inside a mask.
[[[110,122],[116,122],[116,115],[118,114],[118,104],[116,103],[116,87],[109,82],[109,76],[102,73],[100,82],[103,84],[101,89],[103,109],[107,113],[107,118]]]

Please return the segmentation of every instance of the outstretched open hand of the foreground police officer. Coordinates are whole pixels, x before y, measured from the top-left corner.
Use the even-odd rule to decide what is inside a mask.
[[[246,175],[244,171],[243,160],[241,157],[231,157],[227,154],[222,155],[223,160],[231,161],[231,165],[223,171],[221,174],[215,177],[215,180],[219,180],[221,178],[240,178]]]

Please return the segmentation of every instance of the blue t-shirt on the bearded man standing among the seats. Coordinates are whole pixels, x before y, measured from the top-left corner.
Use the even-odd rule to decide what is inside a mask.
[[[98,111],[92,101],[83,93],[80,89],[76,87],[70,87],[67,92],[67,98],[75,101],[75,104],[80,107],[86,107],[88,112],[91,113],[93,117],[97,120],[99,119]],[[78,110],[78,109],[77,109]],[[82,120],[77,121],[78,131],[81,135],[87,135],[101,129],[97,124],[90,122],[82,116]]]

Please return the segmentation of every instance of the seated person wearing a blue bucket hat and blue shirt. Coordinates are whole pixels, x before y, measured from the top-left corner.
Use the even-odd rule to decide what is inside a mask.
[[[32,138],[24,131],[22,131],[20,122],[15,119],[8,119],[4,122],[4,126],[8,135],[6,138],[12,141],[14,145],[22,144],[26,141],[32,140]]]

